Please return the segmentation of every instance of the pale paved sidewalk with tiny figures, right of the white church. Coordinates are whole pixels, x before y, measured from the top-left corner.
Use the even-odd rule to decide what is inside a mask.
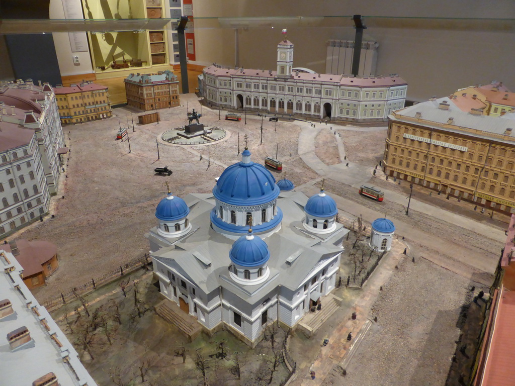
[[[390,278],[395,267],[403,258],[405,244],[401,241],[394,241],[391,251],[383,257],[379,266],[374,270],[370,278],[365,283],[361,295],[355,302],[354,308],[349,308],[344,318],[334,329],[327,346],[321,346],[317,359],[311,367],[301,367],[297,370],[296,378],[290,383],[296,386],[318,386],[321,385],[333,367],[341,365],[349,354],[350,349],[356,343],[355,338],[358,332],[367,322],[370,309],[380,292],[380,287],[384,286]],[[352,312],[356,312],[357,317],[352,320]],[[348,341],[347,336],[351,332],[352,340]],[[310,370],[314,370],[316,378],[311,379]]]

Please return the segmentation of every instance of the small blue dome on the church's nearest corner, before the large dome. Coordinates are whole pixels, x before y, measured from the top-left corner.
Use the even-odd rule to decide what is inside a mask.
[[[268,245],[261,237],[249,233],[238,238],[229,251],[229,257],[234,264],[244,267],[262,266],[268,261],[270,252]]]

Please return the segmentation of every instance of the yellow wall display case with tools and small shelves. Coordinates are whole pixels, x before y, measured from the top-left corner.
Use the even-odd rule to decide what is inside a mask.
[[[83,0],[84,16],[94,20],[162,19],[161,0]],[[97,74],[130,67],[168,64],[165,30],[90,32],[93,67]],[[148,70],[147,70],[148,71]],[[151,71],[151,70],[150,70]]]

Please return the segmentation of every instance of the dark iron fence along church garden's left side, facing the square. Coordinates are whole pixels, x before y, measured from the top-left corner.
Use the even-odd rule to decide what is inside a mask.
[[[126,262],[126,264],[119,266],[119,268],[117,268],[116,270],[108,272],[105,275],[102,275],[97,278],[91,278],[89,282],[86,282],[79,287],[74,287],[69,292],[61,292],[60,295],[54,297],[53,299],[43,302],[43,307],[45,307],[48,311],[56,310],[65,305],[66,303],[74,301],[80,295],[92,292],[99,287],[102,287],[106,284],[113,282],[119,277],[127,275],[140,268],[146,267],[151,261],[152,259],[148,254],[136,257]]]

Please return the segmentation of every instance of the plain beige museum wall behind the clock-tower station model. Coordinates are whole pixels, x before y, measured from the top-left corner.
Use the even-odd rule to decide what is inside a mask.
[[[385,4],[388,4],[385,7]],[[321,2],[260,2],[244,0],[195,0],[195,39],[197,62],[216,62],[234,66],[234,30],[202,28],[212,25],[202,17],[249,16],[323,16],[362,14],[397,17],[515,18],[511,0],[477,2],[435,0]],[[288,28],[288,40],[295,44],[294,66],[325,71],[326,42],[329,39],[354,39],[350,17],[341,19],[342,27]],[[503,81],[515,91],[513,66],[515,34],[513,21],[384,21],[369,27],[364,40],[379,43],[377,75],[398,73],[408,81],[408,99],[421,101],[442,96],[476,83]],[[398,24],[401,28],[398,28]],[[282,38],[281,27],[239,29],[239,65],[247,68],[275,69],[276,46]]]

